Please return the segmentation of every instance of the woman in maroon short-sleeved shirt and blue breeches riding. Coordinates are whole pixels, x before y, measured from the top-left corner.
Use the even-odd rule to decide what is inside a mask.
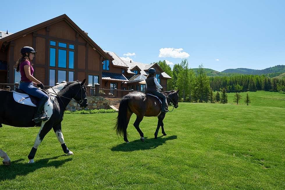
[[[35,112],[35,116],[33,121],[35,123],[40,123],[41,121],[46,121],[47,116],[42,115],[42,109],[44,108],[44,104],[46,103],[48,96],[40,89],[34,87],[33,85],[37,85],[41,89],[44,89],[44,85],[37,80],[34,76],[34,68],[33,64],[31,64],[31,60],[35,57],[36,52],[32,47],[25,46],[21,49],[22,57],[17,62],[17,72],[21,74],[21,81],[19,85],[19,89],[23,90],[27,94],[31,96],[35,96],[39,98],[37,109]]]

